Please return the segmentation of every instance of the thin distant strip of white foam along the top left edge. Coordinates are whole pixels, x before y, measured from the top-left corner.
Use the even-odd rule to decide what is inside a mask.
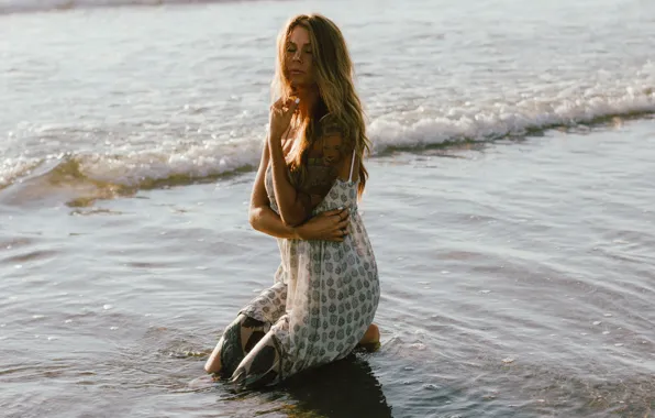
[[[0,15],[75,9],[226,3],[238,0],[0,0]],[[255,1],[255,0],[251,0]]]

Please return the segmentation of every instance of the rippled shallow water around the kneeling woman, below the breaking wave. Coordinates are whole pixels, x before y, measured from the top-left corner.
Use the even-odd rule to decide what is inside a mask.
[[[202,364],[273,280],[275,242],[246,221],[252,175],[13,211],[2,403],[23,417],[355,417],[362,405],[395,417],[648,416],[653,128],[371,161],[362,209],[381,271],[381,350],[243,396],[210,385]]]

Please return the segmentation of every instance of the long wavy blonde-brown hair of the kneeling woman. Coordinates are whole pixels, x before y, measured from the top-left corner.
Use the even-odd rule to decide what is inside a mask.
[[[285,76],[287,42],[297,26],[309,32],[312,45],[313,74],[319,89],[319,102],[312,114],[300,120],[297,114],[293,125],[301,135],[287,156],[287,165],[296,186],[307,176],[307,161],[311,144],[321,135],[338,132],[345,146],[343,151],[355,153],[359,162],[358,196],[362,197],[368,172],[364,167],[364,153],[370,154],[371,144],[366,136],[366,124],[362,101],[355,92],[354,69],[346,42],[341,30],[321,14],[299,14],[291,18],[277,38],[277,63],[271,82],[273,101],[293,96],[290,81]],[[344,155],[352,155],[346,154]]]

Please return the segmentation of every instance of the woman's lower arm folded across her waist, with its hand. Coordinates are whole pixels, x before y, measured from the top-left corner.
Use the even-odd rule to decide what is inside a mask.
[[[251,226],[259,232],[276,238],[343,241],[344,237],[347,234],[347,209],[335,209],[320,213],[298,227],[289,227],[285,224],[279,215],[270,209],[270,201],[268,200],[266,186],[264,184],[269,155],[268,143],[265,143],[264,148],[262,150],[259,169],[257,169],[257,176],[255,177],[255,184],[253,185],[251,195],[251,209],[248,216]]]

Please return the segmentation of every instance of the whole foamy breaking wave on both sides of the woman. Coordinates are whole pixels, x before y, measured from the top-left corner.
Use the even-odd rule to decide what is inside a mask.
[[[417,109],[371,121],[373,156],[393,150],[420,151],[458,142],[523,136],[557,127],[577,127],[655,113],[653,89],[576,99],[526,99],[514,105],[469,106],[445,112]],[[184,150],[133,151],[122,154],[58,154],[45,158],[8,158],[0,164],[0,188],[13,183],[87,183],[119,193],[167,185],[210,182],[256,169],[262,140],[208,142]],[[122,190],[122,191],[121,191]]]

